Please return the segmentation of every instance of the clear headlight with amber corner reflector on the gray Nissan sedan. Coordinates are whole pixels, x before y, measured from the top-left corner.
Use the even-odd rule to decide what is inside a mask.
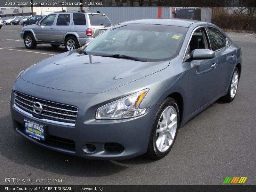
[[[139,108],[139,105],[149,89],[133,93],[97,109],[96,119],[124,119],[143,115],[149,107]]]

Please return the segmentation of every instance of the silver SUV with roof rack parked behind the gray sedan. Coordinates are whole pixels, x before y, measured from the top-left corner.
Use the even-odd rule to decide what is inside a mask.
[[[93,12],[55,12],[20,33],[28,49],[37,44],[65,45],[67,51],[77,49],[106,31],[112,24],[105,14]]]

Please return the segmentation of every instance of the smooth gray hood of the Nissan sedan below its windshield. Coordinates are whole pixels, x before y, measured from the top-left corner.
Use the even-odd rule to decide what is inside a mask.
[[[169,63],[89,56],[70,51],[37,63],[21,78],[53,89],[100,93],[156,73],[167,68]]]

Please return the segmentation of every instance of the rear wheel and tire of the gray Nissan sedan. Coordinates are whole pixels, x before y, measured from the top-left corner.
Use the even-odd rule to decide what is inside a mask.
[[[235,99],[237,88],[238,88],[238,82],[239,82],[239,71],[238,71],[238,68],[236,67],[232,73],[232,78],[229,84],[228,93],[221,98],[223,101],[229,103]]]

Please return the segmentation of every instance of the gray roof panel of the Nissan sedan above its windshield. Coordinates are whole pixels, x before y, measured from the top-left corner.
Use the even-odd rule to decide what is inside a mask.
[[[156,25],[172,25],[179,27],[189,27],[191,24],[201,22],[196,20],[186,19],[140,19],[125,21],[122,24],[156,24]]]

